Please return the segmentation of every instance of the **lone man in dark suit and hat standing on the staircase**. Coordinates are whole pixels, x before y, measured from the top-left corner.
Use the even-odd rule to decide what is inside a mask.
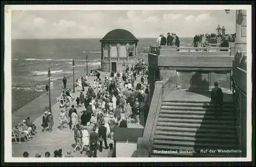
[[[214,82],[215,88],[211,90],[211,101],[214,102],[215,116],[216,118],[219,115],[219,112],[222,109],[223,104],[223,92],[218,87],[218,82]]]

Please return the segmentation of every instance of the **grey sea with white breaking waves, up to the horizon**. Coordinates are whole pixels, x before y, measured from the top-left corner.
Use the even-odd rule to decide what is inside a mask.
[[[73,75],[72,59],[75,60],[75,74],[86,75],[88,69],[100,68],[100,39],[13,39],[12,40],[12,87],[15,85],[42,85],[48,83],[48,68],[51,80],[61,82],[63,76]],[[180,45],[193,42],[193,38],[180,38]],[[156,44],[156,38],[141,38],[138,52]],[[90,73],[90,71],[89,71]],[[84,76],[83,75],[83,76]],[[77,78],[80,76],[77,76]],[[35,89],[35,88],[27,88]],[[36,89],[37,91],[42,91]]]

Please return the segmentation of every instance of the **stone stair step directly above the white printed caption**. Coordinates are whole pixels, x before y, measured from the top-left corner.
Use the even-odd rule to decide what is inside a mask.
[[[229,148],[233,149],[236,145],[232,143],[212,143],[212,142],[199,142],[199,141],[166,141],[166,140],[159,140],[155,139],[153,141],[153,145],[162,145],[162,148],[165,148],[165,146],[190,146],[190,147],[199,147],[199,148],[211,148],[211,149],[217,149],[217,148]]]

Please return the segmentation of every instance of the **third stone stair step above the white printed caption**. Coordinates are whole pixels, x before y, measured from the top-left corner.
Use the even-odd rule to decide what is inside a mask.
[[[156,130],[156,135],[165,135],[165,136],[198,136],[198,137],[224,137],[224,138],[234,138],[234,134],[219,134],[219,133],[199,133],[199,132],[186,132],[186,131],[167,131],[167,130]]]

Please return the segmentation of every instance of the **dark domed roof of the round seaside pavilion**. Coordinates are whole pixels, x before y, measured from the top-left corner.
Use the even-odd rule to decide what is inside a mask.
[[[107,33],[102,41],[139,41],[132,33],[123,29],[115,29]]]

